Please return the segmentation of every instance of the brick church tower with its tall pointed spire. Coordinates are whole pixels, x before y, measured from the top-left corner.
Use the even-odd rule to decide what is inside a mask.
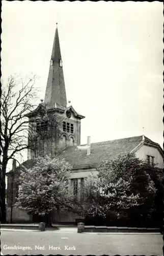
[[[70,103],[70,102],[69,102]],[[67,104],[58,27],[54,35],[44,102],[29,117],[28,159],[57,155],[67,146],[80,144],[83,115]]]

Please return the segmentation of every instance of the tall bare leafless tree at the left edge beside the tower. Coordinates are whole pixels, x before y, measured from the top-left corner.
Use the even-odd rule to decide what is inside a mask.
[[[34,109],[36,75],[23,81],[20,76],[10,76],[2,84],[0,148],[1,148],[1,221],[6,223],[6,170],[11,159],[28,148],[28,119],[26,113]]]

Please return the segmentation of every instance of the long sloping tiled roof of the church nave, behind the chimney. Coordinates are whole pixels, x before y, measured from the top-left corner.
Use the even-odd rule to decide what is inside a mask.
[[[145,137],[146,141],[150,141]],[[143,136],[91,143],[91,154],[87,150],[77,150],[68,146],[57,157],[65,159],[72,166],[99,164],[102,160],[112,159],[119,154],[128,154],[143,141]]]

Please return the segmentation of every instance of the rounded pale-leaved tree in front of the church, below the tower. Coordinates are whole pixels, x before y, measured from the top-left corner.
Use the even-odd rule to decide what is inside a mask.
[[[45,216],[50,226],[54,209],[69,209],[70,170],[65,160],[38,158],[33,168],[21,170],[16,206],[29,214]]]

